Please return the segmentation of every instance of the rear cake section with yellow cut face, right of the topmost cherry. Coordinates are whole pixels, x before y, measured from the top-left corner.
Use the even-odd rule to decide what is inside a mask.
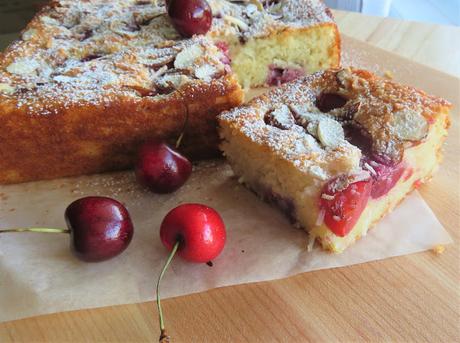
[[[322,0],[208,0],[208,33],[244,88],[278,86],[340,64],[340,35]]]

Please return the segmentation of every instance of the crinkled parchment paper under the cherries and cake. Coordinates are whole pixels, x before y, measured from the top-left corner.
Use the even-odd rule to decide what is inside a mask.
[[[136,230],[122,255],[98,264],[76,260],[65,234],[1,236],[0,322],[152,300],[167,255],[159,240],[159,226],[164,215],[183,202],[217,209],[226,223],[228,242],[213,267],[176,259],[164,279],[164,298],[363,263],[451,242],[415,193],[345,253],[334,255],[318,247],[307,252],[306,233],[241,186],[223,160],[195,167],[191,179],[174,195],[140,189],[132,172],[3,186],[0,193],[1,227],[64,227],[64,209],[71,201],[106,195],[126,204]]]

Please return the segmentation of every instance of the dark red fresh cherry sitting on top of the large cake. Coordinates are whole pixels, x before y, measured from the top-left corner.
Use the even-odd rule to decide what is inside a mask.
[[[205,34],[212,24],[212,11],[206,0],[169,0],[168,15],[176,30],[186,38]]]

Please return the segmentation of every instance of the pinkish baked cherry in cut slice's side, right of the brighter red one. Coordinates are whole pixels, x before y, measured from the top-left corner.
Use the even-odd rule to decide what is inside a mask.
[[[369,171],[373,179],[371,191],[373,199],[387,194],[396,185],[405,171],[402,163],[385,165],[368,158],[363,159],[363,168]]]

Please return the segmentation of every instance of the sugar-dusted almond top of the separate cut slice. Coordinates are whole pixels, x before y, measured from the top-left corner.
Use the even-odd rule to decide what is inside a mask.
[[[399,163],[404,149],[423,141],[448,106],[415,88],[343,68],[273,89],[219,119],[325,180],[343,173],[364,177],[369,170],[363,155]]]

